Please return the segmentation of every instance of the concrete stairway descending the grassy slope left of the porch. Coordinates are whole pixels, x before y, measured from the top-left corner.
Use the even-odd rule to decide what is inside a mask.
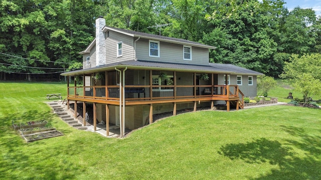
[[[77,128],[79,130],[85,130],[87,127],[82,126],[81,123],[78,122],[72,115],[69,115],[65,110],[65,105],[61,102],[48,102],[51,108],[54,110],[54,113],[59,115],[59,117],[68,123],[70,126]]]

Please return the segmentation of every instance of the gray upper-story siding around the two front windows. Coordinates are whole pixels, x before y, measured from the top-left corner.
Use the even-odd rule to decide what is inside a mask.
[[[209,50],[192,46],[192,60],[184,60],[183,44],[160,41],[159,57],[149,57],[149,39],[141,38],[136,42],[136,57],[138,60],[208,65]]]

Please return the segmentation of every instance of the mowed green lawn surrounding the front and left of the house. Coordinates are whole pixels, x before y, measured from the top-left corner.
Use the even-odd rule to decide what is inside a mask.
[[[24,89],[24,90],[22,90]],[[269,106],[172,116],[124,139],[76,130],[46,93],[66,84],[0,82],[0,179],[320,179],[320,110]],[[63,136],[26,143],[12,120],[45,118]]]

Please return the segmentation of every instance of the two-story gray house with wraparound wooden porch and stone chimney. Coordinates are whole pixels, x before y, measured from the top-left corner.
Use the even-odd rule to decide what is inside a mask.
[[[68,76],[67,101],[93,105],[94,129],[104,121],[124,129],[152,123],[152,115],[201,106],[243,107],[256,96],[260,72],[232,64],[209,63],[215,46],[105,26],[96,19],[96,38],[81,51],[83,69]],[[73,83],[69,83],[73,80]],[[85,123],[85,122],[84,122]]]

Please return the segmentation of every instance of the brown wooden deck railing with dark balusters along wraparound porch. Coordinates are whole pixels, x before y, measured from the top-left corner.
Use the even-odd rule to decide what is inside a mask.
[[[69,97],[119,100],[118,85],[69,86]],[[125,85],[126,100],[238,97],[238,85]]]

